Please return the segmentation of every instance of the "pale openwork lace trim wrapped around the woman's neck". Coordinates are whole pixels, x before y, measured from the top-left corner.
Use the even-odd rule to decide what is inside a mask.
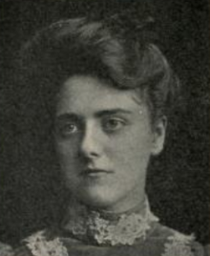
[[[134,245],[136,239],[145,240],[152,222],[158,222],[158,218],[146,203],[144,217],[139,213],[121,214],[112,222],[98,212],[91,212],[86,217],[76,216],[69,222],[68,229],[76,238],[91,238],[97,245]]]

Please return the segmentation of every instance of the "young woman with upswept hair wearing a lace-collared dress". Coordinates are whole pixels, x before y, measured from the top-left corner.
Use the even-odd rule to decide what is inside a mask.
[[[203,255],[193,236],[160,224],[145,192],[179,88],[153,25],[143,13],[62,20],[25,46],[18,90],[32,154],[70,196],[62,221],[14,255]]]

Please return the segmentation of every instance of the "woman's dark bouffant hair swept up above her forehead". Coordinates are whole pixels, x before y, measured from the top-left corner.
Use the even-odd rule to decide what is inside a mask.
[[[19,64],[30,117],[37,121],[33,115],[43,116],[44,110],[53,116],[55,96],[71,75],[95,75],[119,90],[136,90],[152,122],[167,116],[179,80],[158,48],[155,26],[153,17],[138,9],[103,20],[61,20],[38,32]]]

